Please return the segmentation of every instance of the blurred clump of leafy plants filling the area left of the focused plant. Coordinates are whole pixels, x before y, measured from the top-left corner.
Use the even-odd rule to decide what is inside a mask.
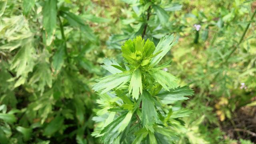
[[[100,67],[86,54],[100,40],[84,18],[92,16],[85,4],[0,2],[0,104],[8,108],[1,115],[19,110],[11,124],[0,118],[1,144],[94,142],[90,78]]]

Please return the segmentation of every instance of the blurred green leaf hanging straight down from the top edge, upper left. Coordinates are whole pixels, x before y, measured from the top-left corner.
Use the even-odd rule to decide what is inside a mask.
[[[57,0],[46,0],[43,9],[43,25],[46,31],[46,45],[49,46],[54,38],[57,23]]]

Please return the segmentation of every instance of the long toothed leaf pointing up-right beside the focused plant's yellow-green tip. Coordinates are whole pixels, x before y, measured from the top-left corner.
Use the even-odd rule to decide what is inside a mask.
[[[172,46],[175,44],[173,42],[174,40],[174,35],[165,35],[160,39],[160,42],[156,46],[156,50],[154,51],[153,54],[156,54],[160,52],[157,56],[152,58],[151,64],[155,66],[160,62],[160,60],[166,55],[166,53],[172,48]]]

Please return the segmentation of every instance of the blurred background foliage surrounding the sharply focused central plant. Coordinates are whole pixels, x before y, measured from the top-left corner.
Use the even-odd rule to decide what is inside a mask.
[[[105,57],[174,33],[168,70],[194,96],[178,143],[256,142],[253,0],[1,0],[0,143],[99,143],[91,85]]]

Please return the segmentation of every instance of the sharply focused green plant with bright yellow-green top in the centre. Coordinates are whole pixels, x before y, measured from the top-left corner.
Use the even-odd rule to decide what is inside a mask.
[[[163,36],[155,47],[149,39],[137,36],[122,45],[125,69],[114,60],[104,68],[110,76],[96,80],[93,89],[100,92],[96,110],[98,122],[93,136],[103,143],[170,143],[178,140],[176,129],[189,110],[172,107],[188,99],[193,91],[178,86],[178,78],[162,70],[170,62],[157,66],[175,44],[174,35]]]

